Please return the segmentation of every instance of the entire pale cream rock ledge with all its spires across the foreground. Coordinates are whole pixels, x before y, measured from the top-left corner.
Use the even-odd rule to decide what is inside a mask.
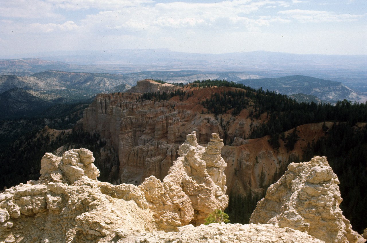
[[[363,243],[339,208],[337,176],[325,157],[292,163],[251,216],[256,224],[210,224],[228,205],[222,139],[207,147],[188,134],[160,181],[139,185],[97,180],[87,149],[41,160],[41,177],[0,194],[0,243]],[[196,227],[195,227],[196,226]]]

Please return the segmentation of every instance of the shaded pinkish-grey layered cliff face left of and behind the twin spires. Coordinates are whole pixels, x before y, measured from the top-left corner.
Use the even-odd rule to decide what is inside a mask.
[[[211,133],[223,135],[217,121],[174,109],[179,105],[176,101],[137,102],[137,97],[100,94],[83,115],[83,130],[97,131],[117,151],[117,183],[141,184],[150,175],[163,180],[191,131],[197,131],[200,144],[207,144]]]

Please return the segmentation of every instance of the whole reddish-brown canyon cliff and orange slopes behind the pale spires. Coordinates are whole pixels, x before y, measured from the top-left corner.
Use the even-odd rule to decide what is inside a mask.
[[[142,99],[144,92],[185,91],[167,100]],[[114,148],[119,159],[119,176],[115,183],[141,184],[154,175],[162,180],[178,158],[178,148],[186,135],[196,131],[199,144],[210,141],[217,133],[224,139],[221,155],[227,167],[227,193],[244,194],[250,190],[262,192],[288,163],[302,157],[308,141],[324,135],[323,123],[305,124],[297,127],[298,142],[288,151],[285,142],[279,139],[280,148],[274,149],[269,136],[246,139],[251,128],[267,119],[250,117],[250,109],[243,109],[232,116],[230,111],[214,115],[204,108],[202,102],[215,93],[239,91],[234,87],[173,87],[168,84],[143,80],[126,93],[99,94],[84,110],[84,131],[97,131],[106,143]],[[131,93],[130,93],[131,92]],[[132,92],[140,92],[132,93]],[[180,100],[181,99],[181,100]],[[251,107],[251,103],[250,103]],[[331,122],[325,124],[331,127]],[[285,136],[292,130],[286,131]],[[277,178],[276,178],[277,179]]]

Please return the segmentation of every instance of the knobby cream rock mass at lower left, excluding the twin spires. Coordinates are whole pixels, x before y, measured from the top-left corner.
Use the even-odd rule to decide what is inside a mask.
[[[87,149],[46,153],[38,181],[0,194],[0,242],[111,242],[155,229],[140,189],[97,181],[92,162]]]

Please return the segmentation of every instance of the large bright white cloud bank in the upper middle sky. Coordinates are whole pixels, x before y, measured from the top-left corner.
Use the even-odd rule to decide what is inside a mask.
[[[246,0],[219,3],[157,3],[152,6],[130,6],[119,10],[87,15],[85,26],[103,24],[103,28],[139,31],[148,29],[247,28],[269,26],[269,22],[248,17],[272,1]],[[92,27],[90,27],[92,28]]]

